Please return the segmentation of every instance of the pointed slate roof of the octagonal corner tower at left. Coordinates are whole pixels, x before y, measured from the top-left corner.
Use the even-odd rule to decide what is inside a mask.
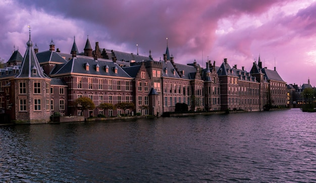
[[[17,78],[47,78],[42,68],[40,67],[37,57],[33,49],[33,42],[31,41],[31,35],[27,41],[27,48],[21,63],[21,70]],[[36,70],[34,74],[32,71]]]

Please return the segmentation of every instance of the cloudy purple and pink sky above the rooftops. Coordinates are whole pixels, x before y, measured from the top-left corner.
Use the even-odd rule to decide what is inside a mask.
[[[101,48],[163,59],[167,38],[176,63],[250,71],[262,65],[288,84],[316,84],[316,0],[2,0],[0,57],[22,56],[29,37],[39,51],[51,40],[70,53],[75,40],[83,51],[87,37]],[[136,46],[138,45],[138,46]]]

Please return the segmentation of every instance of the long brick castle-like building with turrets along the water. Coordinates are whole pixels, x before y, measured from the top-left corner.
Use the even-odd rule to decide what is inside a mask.
[[[50,115],[103,114],[118,116],[122,109],[102,109],[101,103],[130,102],[134,109],[123,113],[161,116],[185,103],[191,111],[264,110],[267,104],[287,105],[287,85],[276,68],[262,68],[260,56],[250,72],[231,67],[228,59],[208,60],[202,68],[193,63],[177,64],[167,44],[163,60],[149,56],[100,48],[93,50],[87,38],[84,52],[75,39],[70,53],[33,48],[31,36],[24,56],[15,50],[0,69],[0,113],[14,123],[48,123]],[[96,108],[81,111],[74,104],[90,98]]]

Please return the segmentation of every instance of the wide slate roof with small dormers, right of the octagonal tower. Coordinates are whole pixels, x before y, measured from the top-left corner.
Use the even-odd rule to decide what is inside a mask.
[[[86,65],[89,65],[88,71],[85,69]],[[96,72],[97,65],[99,66],[99,72]],[[106,67],[109,67],[108,73],[106,72]],[[115,68],[118,70],[117,74],[114,71]],[[70,59],[69,62],[64,64],[58,71],[54,70],[54,75],[65,75],[70,73],[130,78],[130,76],[116,63],[113,63],[112,60],[99,58],[96,61],[93,57],[80,55]]]

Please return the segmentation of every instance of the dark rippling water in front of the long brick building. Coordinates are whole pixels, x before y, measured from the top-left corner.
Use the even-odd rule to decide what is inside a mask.
[[[316,182],[299,109],[0,127],[0,182]]]

